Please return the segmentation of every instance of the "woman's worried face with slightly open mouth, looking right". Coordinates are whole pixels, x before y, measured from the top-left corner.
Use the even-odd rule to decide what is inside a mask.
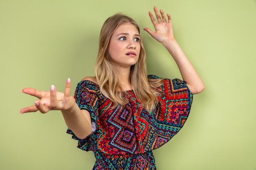
[[[137,28],[130,23],[121,24],[110,38],[108,51],[115,64],[130,68],[139,59],[140,35]]]

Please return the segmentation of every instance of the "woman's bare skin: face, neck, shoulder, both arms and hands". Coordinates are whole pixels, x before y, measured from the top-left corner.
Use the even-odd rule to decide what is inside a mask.
[[[202,92],[205,88],[202,79],[174,38],[171,15],[165,15],[162,10],[158,12],[156,7],[154,7],[154,12],[156,19],[151,12],[148,14],[155,27],[155,32],[149,28],[144,28],[144,30],[155,40],[161,42],[169,51],[177,63],[182,78],[187,83],[191,93],[197,94]],[[139,38],[139,34],[135,26],[131,24],[122,24],[117,30],[119,32],[115,31],[110,40],[109,50],[112,59],[119,68],[119,80],[122,88],[124,90],[130,90],[130,66],[137,62],[137,57],[139,56],[139,52],[137,51],[139,51],[140,45],[137,45],[139,42],[135,41],[135,38]],[[125,33],[126,38],[121,39],[123,35],[121,37],[117,36],[120,33]],[[118,50],[115,51],[114,48]],[[126,55],[129,51],[135,52],[136,55]],[[85,77],[82,80],[90,80],[97,83],[95,77]],[[36,112],[38,110],[41,113],[47,113],[50,110],[61,110],[67,126],[77,137],[84,139],[92,133],[90,113],[86,110],[80,110],[74,97],[70,96],[70,87],[70,79],[67,79],[64,93],[57,92],[54,86],[51,86],[48,92],[38,91],[34,88],[22,89],[23,93],[37,97],[38,100],[35,101],[34,105],[22,108],[20,113]]]

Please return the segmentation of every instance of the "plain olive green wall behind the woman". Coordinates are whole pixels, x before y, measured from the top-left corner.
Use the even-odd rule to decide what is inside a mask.
[[[123,12],[141,29],[153,7],[170,13],[175,38],[206,89],[195,95],[184,128],[154,150],[158,170],[256,170],[255,0],[0,0],[0,169],[91,170],[92,152],[76,148],[59,111],[34,104],[25,87],[72,95],[94,76],[101,25]],[[148,73],[181,78],[162,44],[141,30]]]

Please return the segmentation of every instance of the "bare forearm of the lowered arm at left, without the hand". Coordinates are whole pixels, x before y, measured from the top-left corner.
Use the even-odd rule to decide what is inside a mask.
[[[70,109],[61,110],[61,113],[67,127],[70,128],[78,138],[84,139],[91,134],[92,122],[90,113],[87,110],[80,110],[79,106],[74,104]]]

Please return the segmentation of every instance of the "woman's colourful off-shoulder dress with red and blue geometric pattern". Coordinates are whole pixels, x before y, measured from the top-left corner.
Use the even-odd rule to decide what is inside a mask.
[[[78,148],[93,151],[93,170],[156,170],[152,150],[179,132],[193,98],[186,82],[180,79],[164,79],[159,90],[159,102],[151,113],[139,107],[132,90],[126,91],[128,104],[109,110],[110,99],[101,94],[97,84],[79,82],[74,98],[81,109],[89,111],[96,130],[85,139],[79,139],[70,129],[67,133],[78,140]]]

